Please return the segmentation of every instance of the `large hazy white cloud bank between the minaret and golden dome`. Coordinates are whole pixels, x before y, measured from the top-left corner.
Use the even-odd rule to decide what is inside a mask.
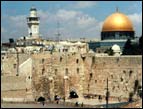
[[[59,9],[55,13],[42,10],[38,12],[40,32],[46,38],[56,37],[57,21],[60,22],[59,30],[63,39],[94,38],[100,35],[100,22],[81,11]]]

